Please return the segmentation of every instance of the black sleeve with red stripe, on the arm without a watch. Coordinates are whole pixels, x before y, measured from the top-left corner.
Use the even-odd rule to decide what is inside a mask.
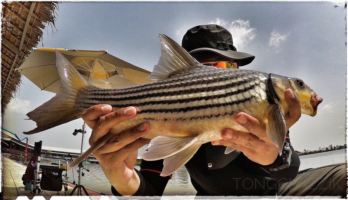
[[[163,169],[163,159],[156,161],[146,161],[142,160],[140,164],[140,170],[136,170],[140,178],[140,185],[138,190],[133,194],[133,196],[161,196],[163,195],[164,189],[172,178],[169,176],[160,176]],[[121,196],[117,190],[111,186],[112,194],[115,196]]]

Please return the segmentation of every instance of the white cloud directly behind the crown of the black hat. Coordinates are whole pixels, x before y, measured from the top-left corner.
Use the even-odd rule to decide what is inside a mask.
[[[225,27],[231,32],[233,38],[233,45],[238,51],[243,49],[248,43],[252,42],[256,37],[256,29],[250,27],[250,22],[238,19],[232,22],[227,22],[224,19],[216,18],[210,24],[217,24]]]

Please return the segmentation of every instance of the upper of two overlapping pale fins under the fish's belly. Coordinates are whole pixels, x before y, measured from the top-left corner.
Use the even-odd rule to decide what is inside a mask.
[[[160,160],[170,157],[196,142],[198,135],[187,137],[158,136],[151,140],[141,158],[144,160]]]

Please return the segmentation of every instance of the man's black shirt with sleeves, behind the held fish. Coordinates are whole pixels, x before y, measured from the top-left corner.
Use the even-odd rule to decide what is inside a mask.
[[[286,141],[290,143],[288,134]],[[203,144],[193,157],[185,164],[191,183],[201,196],[244,196],[275,195],[279,184],[289,182],[298,174],[300,159],[292,149],[292,161],[288,168],[266,172],[263,168],[280,166],[282,157],[269,166],[262,166],[248,159],[238,151],[224,154],[225,146]],[[237,156],[237,157],[236,157]],[[161,196],[171,176],[162,177],[163,160],[142,160],[139,189],[135,196]],[[120,195],[112,187],[114,195]],[[178,194],[180,195],[180,194]]]

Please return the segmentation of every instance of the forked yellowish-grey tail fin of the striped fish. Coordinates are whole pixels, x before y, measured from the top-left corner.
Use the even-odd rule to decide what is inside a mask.
[[[26,115],[36,122],[37,128],[23,132],[34,134],[81,117],[74,108],[80,89],[88,82],[59,51],[56,50],[56,66],[61,87],[56,96]]]

